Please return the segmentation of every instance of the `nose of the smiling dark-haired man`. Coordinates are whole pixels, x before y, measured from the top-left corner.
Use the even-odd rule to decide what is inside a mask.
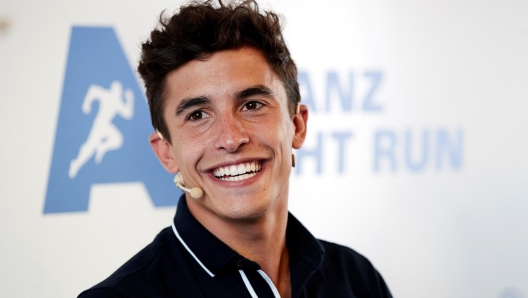
[[[216,149],[225,149],[228,152],[235,152],[238,148],[249,142],[244,124],[241,119],[234,115],[225,115],[218,124],[218,136],[215,142]]]

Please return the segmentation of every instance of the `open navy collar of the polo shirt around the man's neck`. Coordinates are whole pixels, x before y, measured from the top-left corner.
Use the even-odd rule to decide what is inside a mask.
[[[228,264],[233,264],[235,259],[240,258],[254,264],[255,270],[260,269],[257,263],[240,256],[202,226],[189,211],[184,195],[178,202],[173,223],[176,237],[209,275],[215,276],[224,267],[228,267]],[[301,283],[297,286],[302,287],[304,281],[321,266],[324,248],[291,213],[288,213],[286,245],[290,255],[292,289],[294,282]]]

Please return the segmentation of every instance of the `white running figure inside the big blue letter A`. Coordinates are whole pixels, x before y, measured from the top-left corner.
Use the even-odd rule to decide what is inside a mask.
[[[112,123],[117,115],[126,120],[134,117],[134,93],[132,90],[126,89],[123,96],[123,85],[118,81],[113,81],[110,89],[91,85],[82,104],[84,114],[90,114],[92,103],[96,100],[99,101],[99,110],[90,134],[86,142],[81,145],[77,158],[70,162],[68,176],[71,179],[77,176],[79,170],[92,156],[95,155],[95,163],[100,164],[108,151],[117,150],[123,146],[123,134]]]

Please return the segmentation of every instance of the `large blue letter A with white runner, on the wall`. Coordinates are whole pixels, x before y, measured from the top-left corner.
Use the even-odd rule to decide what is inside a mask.
[[[73,27],[44,213],[87,211],[90,187],[143,182],[155,206],[181,191],[148,143],[148,106],[112,28]]]

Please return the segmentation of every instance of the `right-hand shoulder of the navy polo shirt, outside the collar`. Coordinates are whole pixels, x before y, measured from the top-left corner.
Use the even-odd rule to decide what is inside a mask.
[[[366,257],[346,246],[319,241],[325,254],[309,283],[332,291],[332,297],[392,297],[383,277]]]

